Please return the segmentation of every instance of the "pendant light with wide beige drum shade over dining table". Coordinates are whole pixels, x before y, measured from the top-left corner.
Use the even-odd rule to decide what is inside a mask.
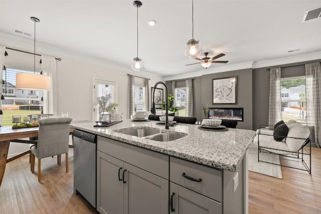
[[[17,73],[16,88],[35,91],[49,91],[51,89],[51,77],[36,74],[36,23],[40,20],[36,17],[30,17],[35,22],[34,38],[34,73]]]

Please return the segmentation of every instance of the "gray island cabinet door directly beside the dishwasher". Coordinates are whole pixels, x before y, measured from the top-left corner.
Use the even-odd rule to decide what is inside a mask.
[[[100,213],[123,213],[123,183],[119,180],[122,169],[121,160],[97,151],[97,210]]]

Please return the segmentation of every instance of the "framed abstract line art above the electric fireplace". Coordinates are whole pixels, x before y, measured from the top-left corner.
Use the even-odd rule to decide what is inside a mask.
[[[213,79],[213,104],[236,104],[237,77]]]

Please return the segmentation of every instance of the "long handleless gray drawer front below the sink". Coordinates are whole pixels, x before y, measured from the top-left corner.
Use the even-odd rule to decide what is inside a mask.
[[[98,136],[97,149],[165,179],[169,179],[169,156]]]

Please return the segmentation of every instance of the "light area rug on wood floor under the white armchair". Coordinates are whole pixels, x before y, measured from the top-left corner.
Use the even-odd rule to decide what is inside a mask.
[[[280,164],[280,158],[277,154],[261,152],[260,160]],[[254,143],[252,143],[248,149],[248,163],[249,171],[282,179],[281,166],[257,161],[257,145]]]

